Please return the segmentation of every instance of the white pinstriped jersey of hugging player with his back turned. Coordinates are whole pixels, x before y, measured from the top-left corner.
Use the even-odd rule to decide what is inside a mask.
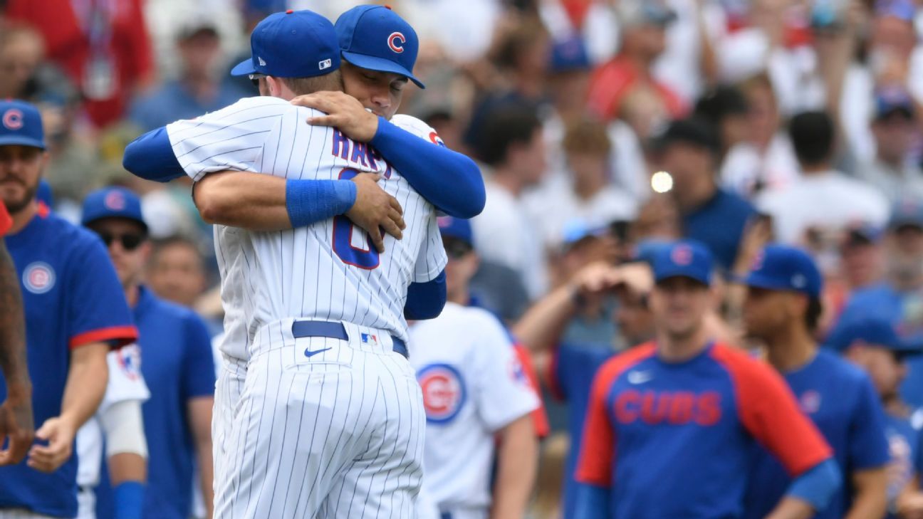
[[[403,239],[387,236],[381,255],[344,216],[271,233],[216,225],[225,323],[246,322],[248,344],[261,327],[285,317],[354,322],[406,340],[407,287],[433,280],[446,263],[436,210],[366,144],[335,128],[306,125],[314,115],[320,113],[254,97],[167,126],[176,158],[194,180],[227,169],[290,179],[379,173],[404,211]],[[239,332],[232,328],[227,336],[222,351],[247,358]]]

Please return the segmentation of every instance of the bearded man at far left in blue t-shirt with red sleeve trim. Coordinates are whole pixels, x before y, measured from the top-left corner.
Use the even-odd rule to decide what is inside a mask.
[[[32,409],[42,424],[27,461],[0,467],[0,515],[74,517],[75,435],[102,401],[110,347],[138,331],[100,240],[35,199],[44,149],[38,109],[0,102],[0,197],[13,219],[6,247],[21,282],[29,373],[40,382]],[[0,399],[16,391],[11,382],[0,382]]]

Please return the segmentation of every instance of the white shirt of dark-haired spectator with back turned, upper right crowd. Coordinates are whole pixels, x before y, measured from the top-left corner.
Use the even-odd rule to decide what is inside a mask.
[[[888,200],[877,189],[838,171],[803,175],[789,187],[765,191],[756,205],[773,216],[776,239],[789,244],[802,243],[811,227],[883,226],[890,214]]]

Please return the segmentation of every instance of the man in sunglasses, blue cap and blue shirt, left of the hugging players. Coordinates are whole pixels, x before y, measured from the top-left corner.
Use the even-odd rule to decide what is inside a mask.
[[[94,191],[83,202],[82,222],[109,248],[140,333],[140,373],[150,387],[150,399],[141,406],[143,433],[138,431],[147,437],[150,453],[143,516],[189,517],[192,467],[197,465],[210,517],[215,368],[209,332],[192,310],[162,300],[141,283],[151,246],[138,195],[123,187]],[[143,472],[140,476],[143,481]],[[110,500],[120,505],[125,477],[111,471],[111,480],[111,498],[104,480],[100,486],[101,509]],[[100,514],[100,519],[108,517]]]

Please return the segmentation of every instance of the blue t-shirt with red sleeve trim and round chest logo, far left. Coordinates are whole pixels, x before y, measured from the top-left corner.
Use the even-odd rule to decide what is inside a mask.
[[[6,236],[26,313],[26,346],[35,427],[60,416],[70,352],[86,344],[126,344],[138,332],[102,241],[40,206],[18,233]],[[6,382],[0,375],[0,402]],[[28,458],[27,458],[28,459]],[[77,454],[52,474],[26,460],[0,467],[0,508],[53,517],[77,515]]]

